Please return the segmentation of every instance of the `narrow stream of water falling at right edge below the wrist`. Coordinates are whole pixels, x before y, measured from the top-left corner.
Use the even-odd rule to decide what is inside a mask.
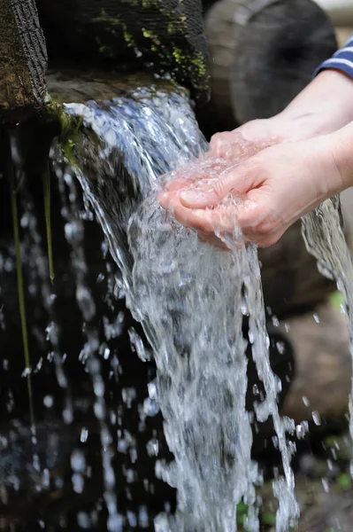
[[[303,216],[303,239],[317,259],[318,270],[334,279],[343,294],[353,363],[353,260],[342,230],[338,197],[326,200],[315,211]],[[353,441],[353,379],[349,396],[349,433]],[[350,466],[353,475],[353,461]]]

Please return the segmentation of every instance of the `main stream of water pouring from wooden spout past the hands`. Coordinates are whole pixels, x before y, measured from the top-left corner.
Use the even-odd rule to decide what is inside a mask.
[[[207,150],[187,94],[135,90],[102,106],[65,107],[83,119],[74,171],[119,266],[118,289],[142,324],[157,364],[143,408],[148,415],[158,408],[163,413],[175,459],[172,465],[157,463],[157,474],[178,489],[178,510],[157,517],[157,532],[235,531],[241,501],[249,505],[247,528],[259,530],[262,478],[251,459],[245,408],[248,343],[265,387],[257,419],[272,416],[282,456],[283,475],[273,489],[279,500],[276,530],[286,532],[298,516],[293,445],[286,436],[295,426],[278,412],[280,381],[269,363],[257,250],[245,248],[235,220],[227,252],[202,244],[195,232],[165,216],[156,200],[159,176]],[[148,358],[134,331],[130,336],[138,355]]]

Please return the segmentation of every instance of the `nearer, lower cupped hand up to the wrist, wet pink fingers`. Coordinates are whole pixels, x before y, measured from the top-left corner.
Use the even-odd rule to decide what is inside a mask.
[[[258,146],[252,145],[249,157],[239,145],[227,145],[226,152],[213,147],[225,158],[209,154],[184,168],[159,195],[162,207],[213,244],[233,234],[236,218],[246,240],[271,246],[289,225],[344,187],[334,136]]]

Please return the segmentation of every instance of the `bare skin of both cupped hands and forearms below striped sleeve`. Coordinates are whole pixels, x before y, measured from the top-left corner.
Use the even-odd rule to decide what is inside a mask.
[[[210,152],[173,176],[158,200],[212,244],[223,246],[236,219],[246,240],[265,247],[351,185],[353,80],[325,70],[282,113],[212,137]]]

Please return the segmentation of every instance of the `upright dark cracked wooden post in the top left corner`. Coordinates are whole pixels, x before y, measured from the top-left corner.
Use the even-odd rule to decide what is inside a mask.
[[[35,0],[0,1],[0,116],[17,120],[40,108],[47,53]]]

